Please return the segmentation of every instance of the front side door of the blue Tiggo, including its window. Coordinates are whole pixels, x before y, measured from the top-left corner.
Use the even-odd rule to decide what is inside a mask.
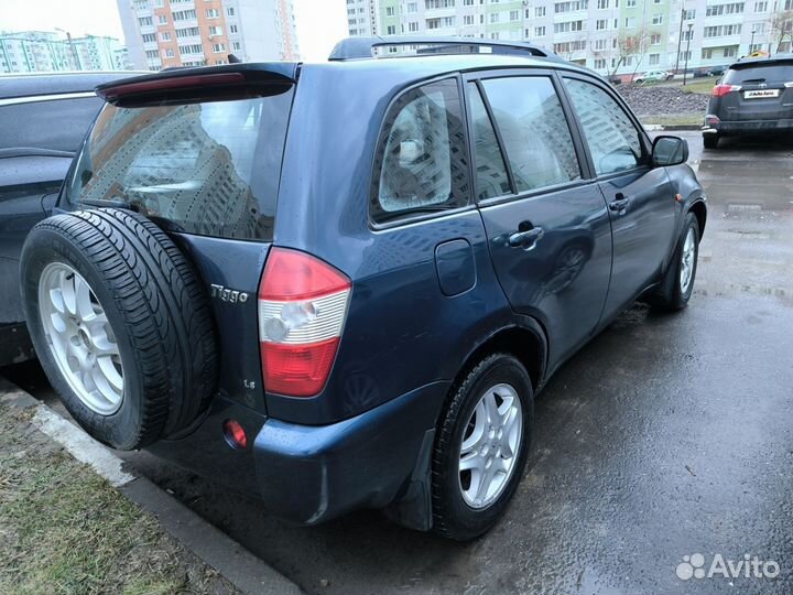
[[[677,203],[666,171],[651,166],[647,136],[606,85],[573,75],[564,80],[611,219],[608,317],[659,279],[672,251]]]

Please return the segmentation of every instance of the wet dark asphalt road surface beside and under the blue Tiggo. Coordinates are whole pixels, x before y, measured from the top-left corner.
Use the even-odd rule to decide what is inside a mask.
[[[684,134],[710,203],[692,303],[632,309],[560,370],[485,538],[376,512],[295,528],[146,453],[127,461],[308,593],[793,593],[793,142],[703,152]],[[35,366],[9,374],[52,399]],[[678,578],[695,554],[724,572]],[[779,574],[726,577],[746,555]]]

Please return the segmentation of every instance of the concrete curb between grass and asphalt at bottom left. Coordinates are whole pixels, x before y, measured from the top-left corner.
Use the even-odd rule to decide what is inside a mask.
[[[145,477],[123,469],[112,451],[46,404],[0,377],[0,402],[33,409],[33,424],[86,463],[129,500],[152,513],[161,527],[208,566],[246,594],[301,595],[303,591]]]

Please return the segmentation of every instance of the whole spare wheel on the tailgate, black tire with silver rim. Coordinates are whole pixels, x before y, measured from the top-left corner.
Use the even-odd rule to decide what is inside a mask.
[[[208,403],[217,376],[208,299],[151,220],[115,208],[44,219],[25,240],[21,285],[42,367],[96,440],[140,448]]]

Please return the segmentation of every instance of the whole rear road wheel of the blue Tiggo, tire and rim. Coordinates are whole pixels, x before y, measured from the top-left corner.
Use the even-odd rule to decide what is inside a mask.
[[[450,394],[433,452],[433,528],[469,541],[496,524],[521,480],[533,389],[517,358],[493,354],[469,369]]]

